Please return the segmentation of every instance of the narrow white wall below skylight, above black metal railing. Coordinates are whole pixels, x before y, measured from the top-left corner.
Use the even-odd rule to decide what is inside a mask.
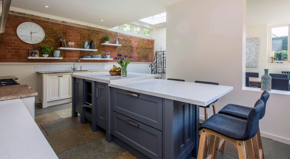
[[[154,39],[154,52],[160,51],[160,47],[162,51],[166,51],[166,27],[153,29],[153,39]]]

